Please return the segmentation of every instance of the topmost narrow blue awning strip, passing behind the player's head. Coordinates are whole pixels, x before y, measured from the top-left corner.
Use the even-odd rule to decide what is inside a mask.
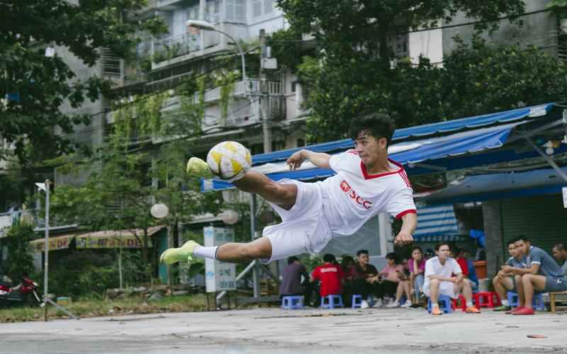
[[[523,120],[526,117],[540,117],[549,113],[555,103],[546,103],[544,105],[534,105],[530,107],[517,108],[515,110],[507,110],[500,113],[491,113],[486,115],[476,115],[474,117],[449,120],[447,122],[438,122],[417,127],[407,127],[395,130],[393,135],[394,143],[403,141],[411,137],[427,137],[439,135],[447,132],[457,132],[461,130],[470,130],[477,127],[487,127],[505,122],[514,122]],[[335,142],[325,142],[322,144],[313,144],[308,148],[313,152],[338,152],[350,149],[354,146],[352,139],[342,139]],[[266,164],[267,162],[283,161],[288,159],[294,152],[304,149],[297,147],[293,149],[279,150],[277,152],[268,152],[266,154],[257,154],[252,156],[252,164]]]

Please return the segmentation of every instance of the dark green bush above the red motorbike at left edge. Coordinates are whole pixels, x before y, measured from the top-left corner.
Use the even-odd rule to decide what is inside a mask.
[[[28,242],[33,239],[33,227],[20,223],[13,225],[2,240],[2,245],[8,249],[4,273],[14,281],[21,279],[23,274],[33,272],[33,257],[28,251]]]

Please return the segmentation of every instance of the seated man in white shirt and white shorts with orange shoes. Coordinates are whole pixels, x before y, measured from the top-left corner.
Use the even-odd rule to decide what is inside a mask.
[[[471,282],[464,281],[464,275],[459,263],[453,258],[449,258],[450,252],[449,244],[439,243],[435,246],[437,257],[430,258],[425,262],[423,292],[431,298],[431,314],[443,314],[437,302],[439,295],[447,295],[452,299],[456,299],[461,292],[466,300],[466,312],[468,314],[478,314],[480,310],[473,305]]]

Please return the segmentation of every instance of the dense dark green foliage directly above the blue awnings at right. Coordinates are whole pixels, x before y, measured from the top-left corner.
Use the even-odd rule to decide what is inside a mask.
[[[424,58],[417,65],[400,60],[382,74],[357,75],[366,69],[357,62],[335,65],[332,59],[300,66],[300,75],[315,78],[306,103],[313,112],[308,122],[313,136],[342,139],[352,118],[370,112],[388,113],[397,127],[408,127],[567,96],[561,60],[537,47],[488,45],[480,38],[460,42],[444,67]]]

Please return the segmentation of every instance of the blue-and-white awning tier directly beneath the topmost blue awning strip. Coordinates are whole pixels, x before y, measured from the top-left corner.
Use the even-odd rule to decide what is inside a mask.
[[[509,137],[511,130],[523,122],[525,121],[459,132],[445,137],[433,137],[430,139],[394,144],[391,149],[399,152],[393,152],[389,156],[394,161],[406,165],[428,160],[443,159],[448,156],[459,156],[472,152],[495,149],[502,147]],[[311,147],[309,147],[309,149],[311,149]],[[326,178],[334,174],[334,171],[330,169],[317,168],[289,171],[286,169],[285,162],[274,164],[274,166],[280,166],[279,171],[266,173],[266,176],[274,181],[279,181],[282,178],[307,181],[315,178]],[[408,169],[408,173],[410,173],[410,171],[412,171],[412,169]],[[203,191],[224,190],[228,188],[234,188],[232,183],[216,179],[201,180],[201,190]]]

